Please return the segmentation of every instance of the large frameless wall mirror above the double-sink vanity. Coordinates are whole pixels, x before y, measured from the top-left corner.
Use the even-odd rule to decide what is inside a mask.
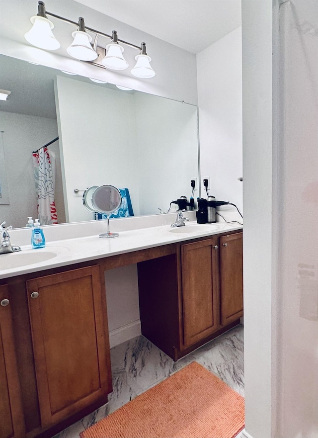
[[[199,181],[195,105],[3,55],[0,66],[0,88],[11,91],[0,101],[8,186],[1,220],[24,227],[28,216],[37,217],[32,151],[57,136],[49,151],[59,223],[94,219],[81,200],[92,185],[128,188],[136,216],[190,197],[190,180]]]

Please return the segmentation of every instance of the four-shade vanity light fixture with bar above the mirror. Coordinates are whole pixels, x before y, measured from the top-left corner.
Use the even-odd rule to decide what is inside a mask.
[[[45,50],[56,50],[60,47],[60,43],[52,32],[54,24],[48,19],[47,15],[78,26],[78,30],[72,33],[74,38],[73,43],[66,49],[68,54],[73,58],[76,58],[79,61],[90,62],[95,66],[110,70],[125,70],[128,68],[128,62],[123,57],[124,48],[121,44],[124,44],[140,51],[139,55],[135,56],[137,62],[135,67],[131,70],[133,76],[141,79],[148,79],[153,78],[156,75],[150,66],[151,58],[146,53],[146,43],[141,43],[141,46],[136,46],[135,44],[120,40],[117,37],[117,32],[115,30],[113,30],[112,35],[108,35],[85,26],[82,17],[79,17],[79,21],[75,22],[68,18],[61,17],[60,15],[56,15],[45,9],[43,1],[38,2],[38,14],[30,18],[33,27],[24,34],[25,39],[33,46]],[[86,30],[95,34],[93,44],[91,44],[92,38]],[[105,49],[97,47],[97,41],[100,36],[111,40],[111,42],[106,45]]]

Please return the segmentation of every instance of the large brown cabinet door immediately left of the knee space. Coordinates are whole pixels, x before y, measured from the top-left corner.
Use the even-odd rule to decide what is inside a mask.
[[[27,293],[41,423],[47,427],[103,397],[107,402],[106,305],[98,266],[29,280]]]

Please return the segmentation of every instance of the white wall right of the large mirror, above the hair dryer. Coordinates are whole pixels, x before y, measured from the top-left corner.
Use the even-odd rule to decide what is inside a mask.
[[[242,48],[241,28],[197,55],[201,190],[242,211]],[[235,207],[223,207],[233,210]]]

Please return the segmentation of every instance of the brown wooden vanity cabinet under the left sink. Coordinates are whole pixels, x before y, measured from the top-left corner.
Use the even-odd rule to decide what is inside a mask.
[[[107,403],[104,275],[98,264],[87,264],[0,286],[1,299],[10,293],[12,300],[11,312],[0,306],[1,438],[50,438]]]

